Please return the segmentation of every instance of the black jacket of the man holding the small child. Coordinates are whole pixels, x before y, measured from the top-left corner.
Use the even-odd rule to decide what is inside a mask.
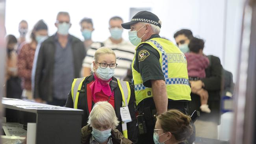
[[[201,79],[204,82],[204,89],[208,91],[208,105],[211,113],[204,113],[200,111],[200,96],[191,93],[191,103],[189,114],[193,111],[200,111],[200,120],[219,123],[220,118],[220,98],[221,98],[221,84],[223,68],[219,57],[209,55],[208,59],[210,65],[206,68],[206,78]]]

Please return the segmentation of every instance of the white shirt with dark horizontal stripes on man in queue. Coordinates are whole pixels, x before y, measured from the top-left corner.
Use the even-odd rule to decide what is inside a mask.
[[[135,46],[124,40],[119,44],[114,44],[109,38],[103,43],[104,47],[111,48],[117,57],[118,65],[115,69],[115,78],[124,78],[127,74],[127,70],[131,68],[132,60],[134,58]],[[83,60],[83,67],[91,68],[91,64],[94,61],[94,53],[98,48],[100,48],[100,43],[91,45],[91,48],[87,51],[86,57]]]

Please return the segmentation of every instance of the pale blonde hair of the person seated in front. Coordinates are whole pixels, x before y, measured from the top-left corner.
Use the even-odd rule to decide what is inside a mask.
[[[118,126],[119,121],[117,120],[115,110],[110,103],[107,101],[95,103],[87,123],[92,127],[95,122],[102,125],[109,124],[112,129],[115,129]]]

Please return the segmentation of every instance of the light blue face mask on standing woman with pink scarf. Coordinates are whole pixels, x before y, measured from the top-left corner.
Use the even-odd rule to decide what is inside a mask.
[[[115,74],[115,69],[112,68],[101,68],[98,66],[98,69],[96,70],[97,75],[100,77],[100,79],[107,81]]]

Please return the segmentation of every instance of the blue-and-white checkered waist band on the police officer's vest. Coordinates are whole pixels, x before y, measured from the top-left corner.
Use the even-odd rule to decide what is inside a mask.
[[[188,79],[185,79],[185,78],[165,78],[165,84],[166,85],[189,85],[189,80]],[[135,91],[138,91],[138,90],[145,90],[147,89],[148,87],[145,87],[143,84],[137,84],[137,85],[134,85],[134,89]]]

